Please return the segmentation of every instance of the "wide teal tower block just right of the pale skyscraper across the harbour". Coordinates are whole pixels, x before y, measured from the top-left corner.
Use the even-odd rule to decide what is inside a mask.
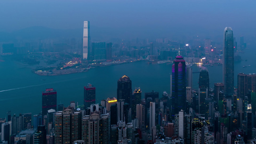
[[[96,61],[106,60],[106,43],[105,42],[94,42],[92,43],[92,57]]]

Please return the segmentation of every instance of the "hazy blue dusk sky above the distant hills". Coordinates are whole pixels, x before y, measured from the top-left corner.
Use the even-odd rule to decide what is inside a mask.
[[[0,31],[91,28],[118,36],[255,36],[256,0],[0,0]],[[93,28],[92,28],[93,29]]]

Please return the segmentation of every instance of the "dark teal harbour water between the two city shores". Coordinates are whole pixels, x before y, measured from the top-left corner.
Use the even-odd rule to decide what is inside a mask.
[[[256,73],[256,50],[247,49],[239,54],[243,61],[235,63],[234,84],[237,85],[237,74]],[[251,66],[248,66],[251,65]],[[243,67],[247,66],[247,67]],[[193,72],[199,72],[200,66],[193,65]],[[222,65],[208,66],[210,87],[222,82]],[[152,90],[170,93],[171,64],[146,64],[137,61],[107,67],[98,67],[88,72],[73,73],[59,76],[39,76],[13,60],[0,62],[0,118],[6,112],[38,114],[42,107],[42,91],[54,88],[57,91],[58,103],[68,106],[70,101],[83,104],[84,85],[91,83],[96,86],[96,102],[108,97],[116,97],[117,80],[127,75],[132,80],[133,89],[140,87],[144,92]],[[193,73],[193,88],[198,88],[199,73]]]

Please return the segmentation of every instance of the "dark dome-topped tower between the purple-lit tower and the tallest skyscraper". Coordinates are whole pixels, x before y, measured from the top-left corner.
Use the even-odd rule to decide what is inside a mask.
[[[203,67],[199,74],[199,88],[201,87],[210,88],[209,74],[206,67]]]

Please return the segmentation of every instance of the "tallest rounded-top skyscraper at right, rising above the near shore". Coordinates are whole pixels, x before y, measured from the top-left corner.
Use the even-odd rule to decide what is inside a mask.
[[[231,98],[234,92],[234,48],[233,31],[226,27],[223,37],[223,84],[224,96]]]

